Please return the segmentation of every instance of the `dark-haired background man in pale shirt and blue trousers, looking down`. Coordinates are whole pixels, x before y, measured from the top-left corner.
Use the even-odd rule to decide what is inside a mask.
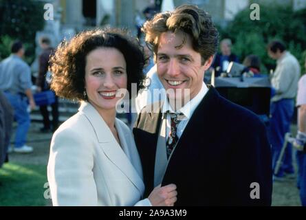
[[[285,45],[280,41],[269,43],[267,53],[277,63],[271,78],[274,96],[271,99],[269,132],[272,144],[272,164],[275,168],[281,153],[285,133],[289,132],[290,122],[294,114],[294,98],[298,89],[300,65],[296,58],[290,52],[287,52]],[[281,168],[278,173],[274,173],[274,180],[280,181],[285,174],[294,175],[291,144],[288,144],[286,148]]]

